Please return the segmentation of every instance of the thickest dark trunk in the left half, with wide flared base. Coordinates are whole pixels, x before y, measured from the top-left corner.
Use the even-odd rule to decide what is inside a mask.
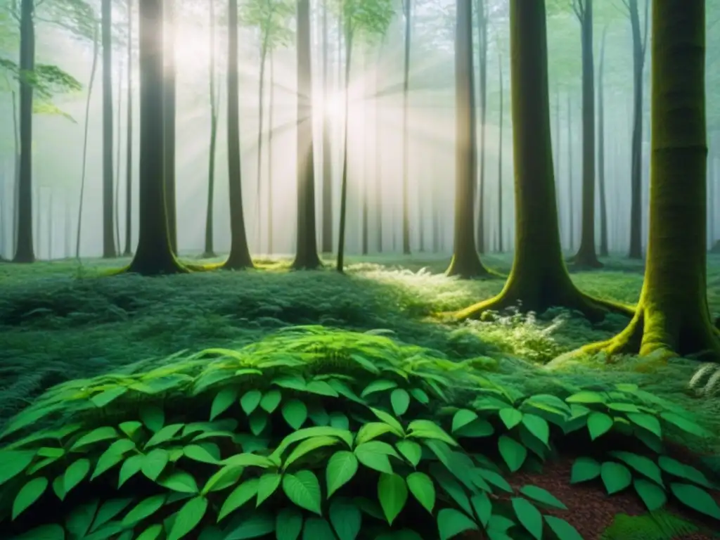
[[[138,249],[127,271],[145,276],[186,271],[170,244],[166,212],[163,135],[163,4],[142,0],[140,8],[140,229]],[[232,20],[232,19],[231,19]]]

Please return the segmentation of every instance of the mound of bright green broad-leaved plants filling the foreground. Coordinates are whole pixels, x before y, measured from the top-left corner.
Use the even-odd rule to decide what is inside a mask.
[[[720,521],[717,479],[665,452],[667,431],[708,436],[687,411],[629,383],[528,395],[488,367],[310,326],[66,382],[0,436],[0,528],[50,540],[575,540],[544,513],[562,501],[506,480],[561,442],[587,449],[570,482]]]

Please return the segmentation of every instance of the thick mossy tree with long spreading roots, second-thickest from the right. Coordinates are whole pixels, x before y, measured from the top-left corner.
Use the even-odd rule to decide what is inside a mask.
[[[461,320],[518,303],[525,312],[567,307],[590,320],[603,318],[608,309],[631,312],[580,292],[562,258],[550,138],[545,13],[544,0],[510,0],[515,256],[502,292],[457,312],[456,318]]]

